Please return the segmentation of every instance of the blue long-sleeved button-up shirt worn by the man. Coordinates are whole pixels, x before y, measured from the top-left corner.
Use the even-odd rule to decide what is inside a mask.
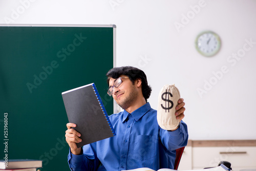
[[[186,124],[181,121],[173,132],[161,129],[150,103],[131,114],[123,111],[109,118],[116,136],[84,145],[82,155],[69,153],[71,170],[173,169],[175,150],[187,144]]]

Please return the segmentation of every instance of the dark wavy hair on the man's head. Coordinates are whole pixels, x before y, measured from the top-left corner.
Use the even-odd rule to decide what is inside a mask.
[[[117,79],[120,77],[120,75],[126,75],[130,78],[130,80],[134,83],[134,81],[138,78],[141,79],[142,82],[142,94],[145,100],[150,97],[151,95],[151,87],[147,84],[146,80],[146,74],[135,67],[127,66],[127,67],[115,67],[111,69],[108,73],[106,73],[106,76],[108,77],[107,82],[109,84],[110,78]]]

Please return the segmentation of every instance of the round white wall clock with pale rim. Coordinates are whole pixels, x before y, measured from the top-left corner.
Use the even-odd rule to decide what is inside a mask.
[[[196,38],[196,48],[204,56],[214,56],[219,52],[220,47],[220,37],[212,31],[203,32]]]

